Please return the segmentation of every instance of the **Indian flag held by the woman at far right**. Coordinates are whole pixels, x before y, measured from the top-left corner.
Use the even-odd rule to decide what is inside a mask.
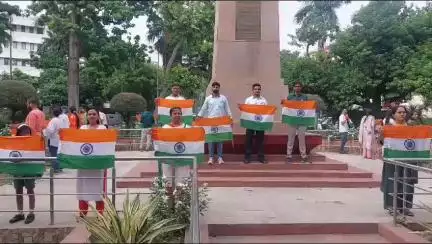
[[[384,126],[385,158],[430,158],[430,126]]]

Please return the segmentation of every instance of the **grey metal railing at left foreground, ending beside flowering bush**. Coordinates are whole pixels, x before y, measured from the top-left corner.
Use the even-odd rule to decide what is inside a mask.
[[[198,194],[198,165],[197,160],[195,157],[191,156],[179,156],[179,157],[116,157],[116,162],[127,162],[127,161],[150,161],[150,160],[175,160],[175,159],[188,159],[192,161],[192,170],[191,170],[191,179],[192,179],[192,192],[191,192],[191,209],[190,209],[190,235],[193,243],[199,243],[200,242],[200,229],[199,229],[199,194]],[[48,177],[33,177],[33,179],[48,179],[49,180],[49,193],[48,194],[34,194],[35,196],[40,195],[49,195],[49,210],[39,210],[34,212],[49,212],[50,215],[50,225],[54,225],[55,223],[55,213],[56,212],[77,212],[77,210],[55,210],[55,196],[65,196],[65,195],[95,195],[95,193],[55,193],[54,191],[54,180],[59,179],[101,179],[101,177],[54,177],[54,170],[52,167],[52,162],[56,160],[55,157],[41,157],[41,158],[0,158],[0,161],[11,161],[14,163],[17,163],[19,161],[33,161],[33,162],[50,162],[46,163],[46,166],[50,167],[49,170],[49,176]],[[159,175],[161,175],[161,164],[158,165],[159,168]],[[172,174],[172,185],[175,185],[175,173]],[[26,179],[29,179],[30,177],[27,177]],[[116,175],[116,168],[115,166],[111,169],[111,177],[106,177],[106,179],[111,179],[111,187],[112,192],[107,192],[107,196],[111,196],[111,201],[116,206],[116,196],[118,195],[124,195],[125,193],[117,193],[116,192],[116,182],[117,179],[124,179],[124,178],[140,178],[140,177],[118,177]],[[19,179],[19,178],[15,178]],[[148,193],[136,193],[136,194],[148,194]],[[16,194],[0,194],[1,197],[11,197],[16,196]],[[16,212],[15,210],[0,210],[0,212]],[[118,212],[122,212],[118,210]]]

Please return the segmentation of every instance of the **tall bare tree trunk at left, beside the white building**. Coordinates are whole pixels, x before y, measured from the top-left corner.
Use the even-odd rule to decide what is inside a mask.
[[[72,10],[71,21],[75,26],[77,16]],[[75,30],[69,33],[69,57],[68,57],[68,106],[79,107],[79,46],[78,36]]]

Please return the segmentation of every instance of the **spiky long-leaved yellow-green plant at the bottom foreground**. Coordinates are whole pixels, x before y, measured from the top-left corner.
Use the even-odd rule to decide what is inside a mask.
[[[98,213],[97,218],[85,218],[83,222],[96,243],[160,243],[157,240],[184,229],[185,225],[175,223],[173,216],[156,220],[158,201],[153,198],[142,203],[139,195],[130,201],[128,192],[120,215],[111,200],[105,198],[104,213]],[[91,208],[96,211],[95,207]]]

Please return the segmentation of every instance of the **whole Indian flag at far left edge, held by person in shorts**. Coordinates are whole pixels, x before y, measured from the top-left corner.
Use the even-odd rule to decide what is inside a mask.
[[[38,136],[0,137],[0,158],[43,158],[44,141]],[[0,172],[13,176],[38,176],[45,171],[45,161],[0,161]]]

